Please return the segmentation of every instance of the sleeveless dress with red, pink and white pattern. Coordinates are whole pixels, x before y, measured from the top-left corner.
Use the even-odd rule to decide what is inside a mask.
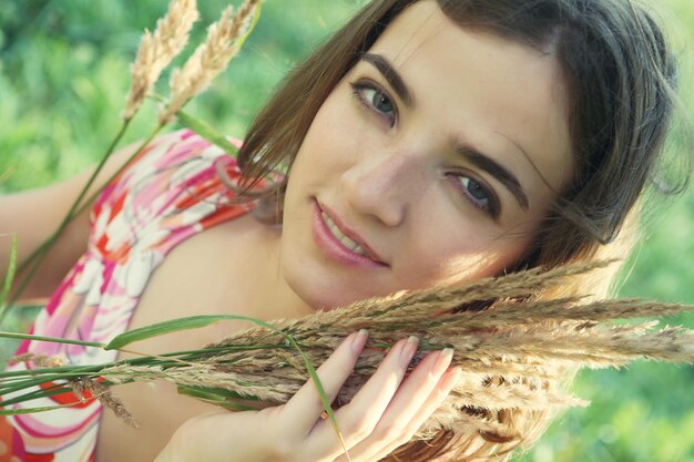
[[[238,178],[233,157],[190,131],[153,142],[100,195],[88,250],[31,333],[108,342],[125,331],[147,280],[173,247],[252,208],[234,201],[220,181],[220,166]],[[62,355],[72,365],[109,362],[118,353],[37,341],[24,341],[18,355],[24,352]],[[9,370],[31,367],[19,362]],[[92,461],[102,412],[98,400],[79,402],[69,392],[14,407],[69,403],[75,405],[0,418],[0,462]]]

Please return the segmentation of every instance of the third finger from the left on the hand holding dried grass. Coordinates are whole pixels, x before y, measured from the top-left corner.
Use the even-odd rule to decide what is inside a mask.
[[[432,391],[439,386],[451,359],[451,349],[428,355],[400,386],[374,432],[353,448],[349,451],[350,455],[356,460],[370,460],[382,452],[385,446],[390,448],[394,442],[396,442],[395,448],[402,444],[400,441],[404,434],[409,433],[416,415],[430,400]],[[418,428],[419,425],[414,431]],[[341,459],[338,461],[341,462]]]

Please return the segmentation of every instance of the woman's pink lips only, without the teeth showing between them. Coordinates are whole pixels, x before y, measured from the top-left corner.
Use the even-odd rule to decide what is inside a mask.
[[[339,230],[351,240],[357,243],[368,256],[359,255],[340,243],[337,237],[330,232],[328,225],[323,219],[322,213],[325,213],[330,217],[333,223],[339,228]],[[314,216],[313,216],[313,235],[314,240],[328,256],[334,259],[349,266],[361,267],[384,267],[387,266],[378,255],[361,239],[355,232],[347,228],[339,218],[326,206],[318,204],[314,201]]]

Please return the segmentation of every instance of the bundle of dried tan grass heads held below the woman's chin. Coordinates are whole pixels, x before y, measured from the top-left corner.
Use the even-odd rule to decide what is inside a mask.
[[[694,307],[542,298],[553,286],[590,269],[529,270],[359,301],[344,309],[275,322],[277,330],[249,329],[195,352],[105,365],[79,379],[104,377],[111,383],[167,380],[217,404],[229,398],[283,403],[307,380],[303,359],[286,341],[287,336],[314,365],[320,365],[348,333],[366,328],[369,341],[337,405],[351,400],[390,346],[416,335],[422,341],[410,367],[428,351],[453,348],[453,363],[463,370],[452,393],[418,438],[429,438],[441,429],[510,434],[513,429],[490,415],[586,404],[563,390],[567,371],[620,367],[635,359],[694,361],[692,330],[656,329],[653,321],[613,322],[669,316]],[[37,370],[33,372],[35,377]]]

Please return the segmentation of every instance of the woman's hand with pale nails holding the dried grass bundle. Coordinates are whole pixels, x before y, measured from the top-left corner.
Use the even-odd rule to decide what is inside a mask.
[[[367,332],[350,335],[318,369],[333,401],[364,349]],[[428,355],[402,380],[418,347],[397,342],[349,404],[335,411],[353,462],[378,461],[408,442],[460,376],[452,351]],[[346,462],[343,445],[313,381],[286,403],[262,411],[214,412],[188,420],[156,462]]]

